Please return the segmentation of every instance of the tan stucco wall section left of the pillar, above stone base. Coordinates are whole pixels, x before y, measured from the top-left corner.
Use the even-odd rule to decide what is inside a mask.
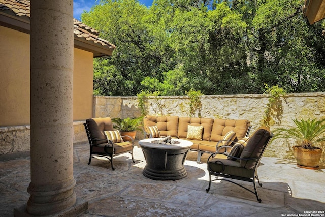
[[[0,127],[29,125],[29,34],[0,26]]]

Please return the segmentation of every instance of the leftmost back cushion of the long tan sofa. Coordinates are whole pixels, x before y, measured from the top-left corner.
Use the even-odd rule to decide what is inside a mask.
[[[177,137],[178,116],[152,116],[146,115],[143,118],[144,129],[147,133],[148,126],[157,126],[161,136]]]

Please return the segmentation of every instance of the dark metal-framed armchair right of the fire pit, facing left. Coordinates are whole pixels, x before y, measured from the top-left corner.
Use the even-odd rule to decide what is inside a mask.
[[[268,128],[260,127],[250,137],[245,137],[243,140],[236,142],[229,153],[225,152],[228,146],[220,146],[217,152],[211,154],[208,158],[210,179],[206,192],[209,192],[212,181],[224,180],[237,184],[255,194],[257,201],[261,203],[262,200],[258,197],[255,184],[257,180],[258,185],[262,187],[257,175],[257,167],[272,136],[273,134]],[[211,176],[216,176],[216,179],[212,180]],[[253,182],[254,191],[231,179]]]

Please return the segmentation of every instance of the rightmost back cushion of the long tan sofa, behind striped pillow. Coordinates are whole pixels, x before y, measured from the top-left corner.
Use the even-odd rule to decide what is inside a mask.
[[[218,142],[222,140],[226,133],[233,130],[236,133],[234,141],[237,142],[245,137],[249,125],[248,120],[214,119],[210,140]]]

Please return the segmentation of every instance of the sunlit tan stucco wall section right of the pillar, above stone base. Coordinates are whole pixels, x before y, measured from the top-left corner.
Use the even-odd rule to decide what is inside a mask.
[[[73,119],[85,120],[93,112],[93,53],[74,48]]]

